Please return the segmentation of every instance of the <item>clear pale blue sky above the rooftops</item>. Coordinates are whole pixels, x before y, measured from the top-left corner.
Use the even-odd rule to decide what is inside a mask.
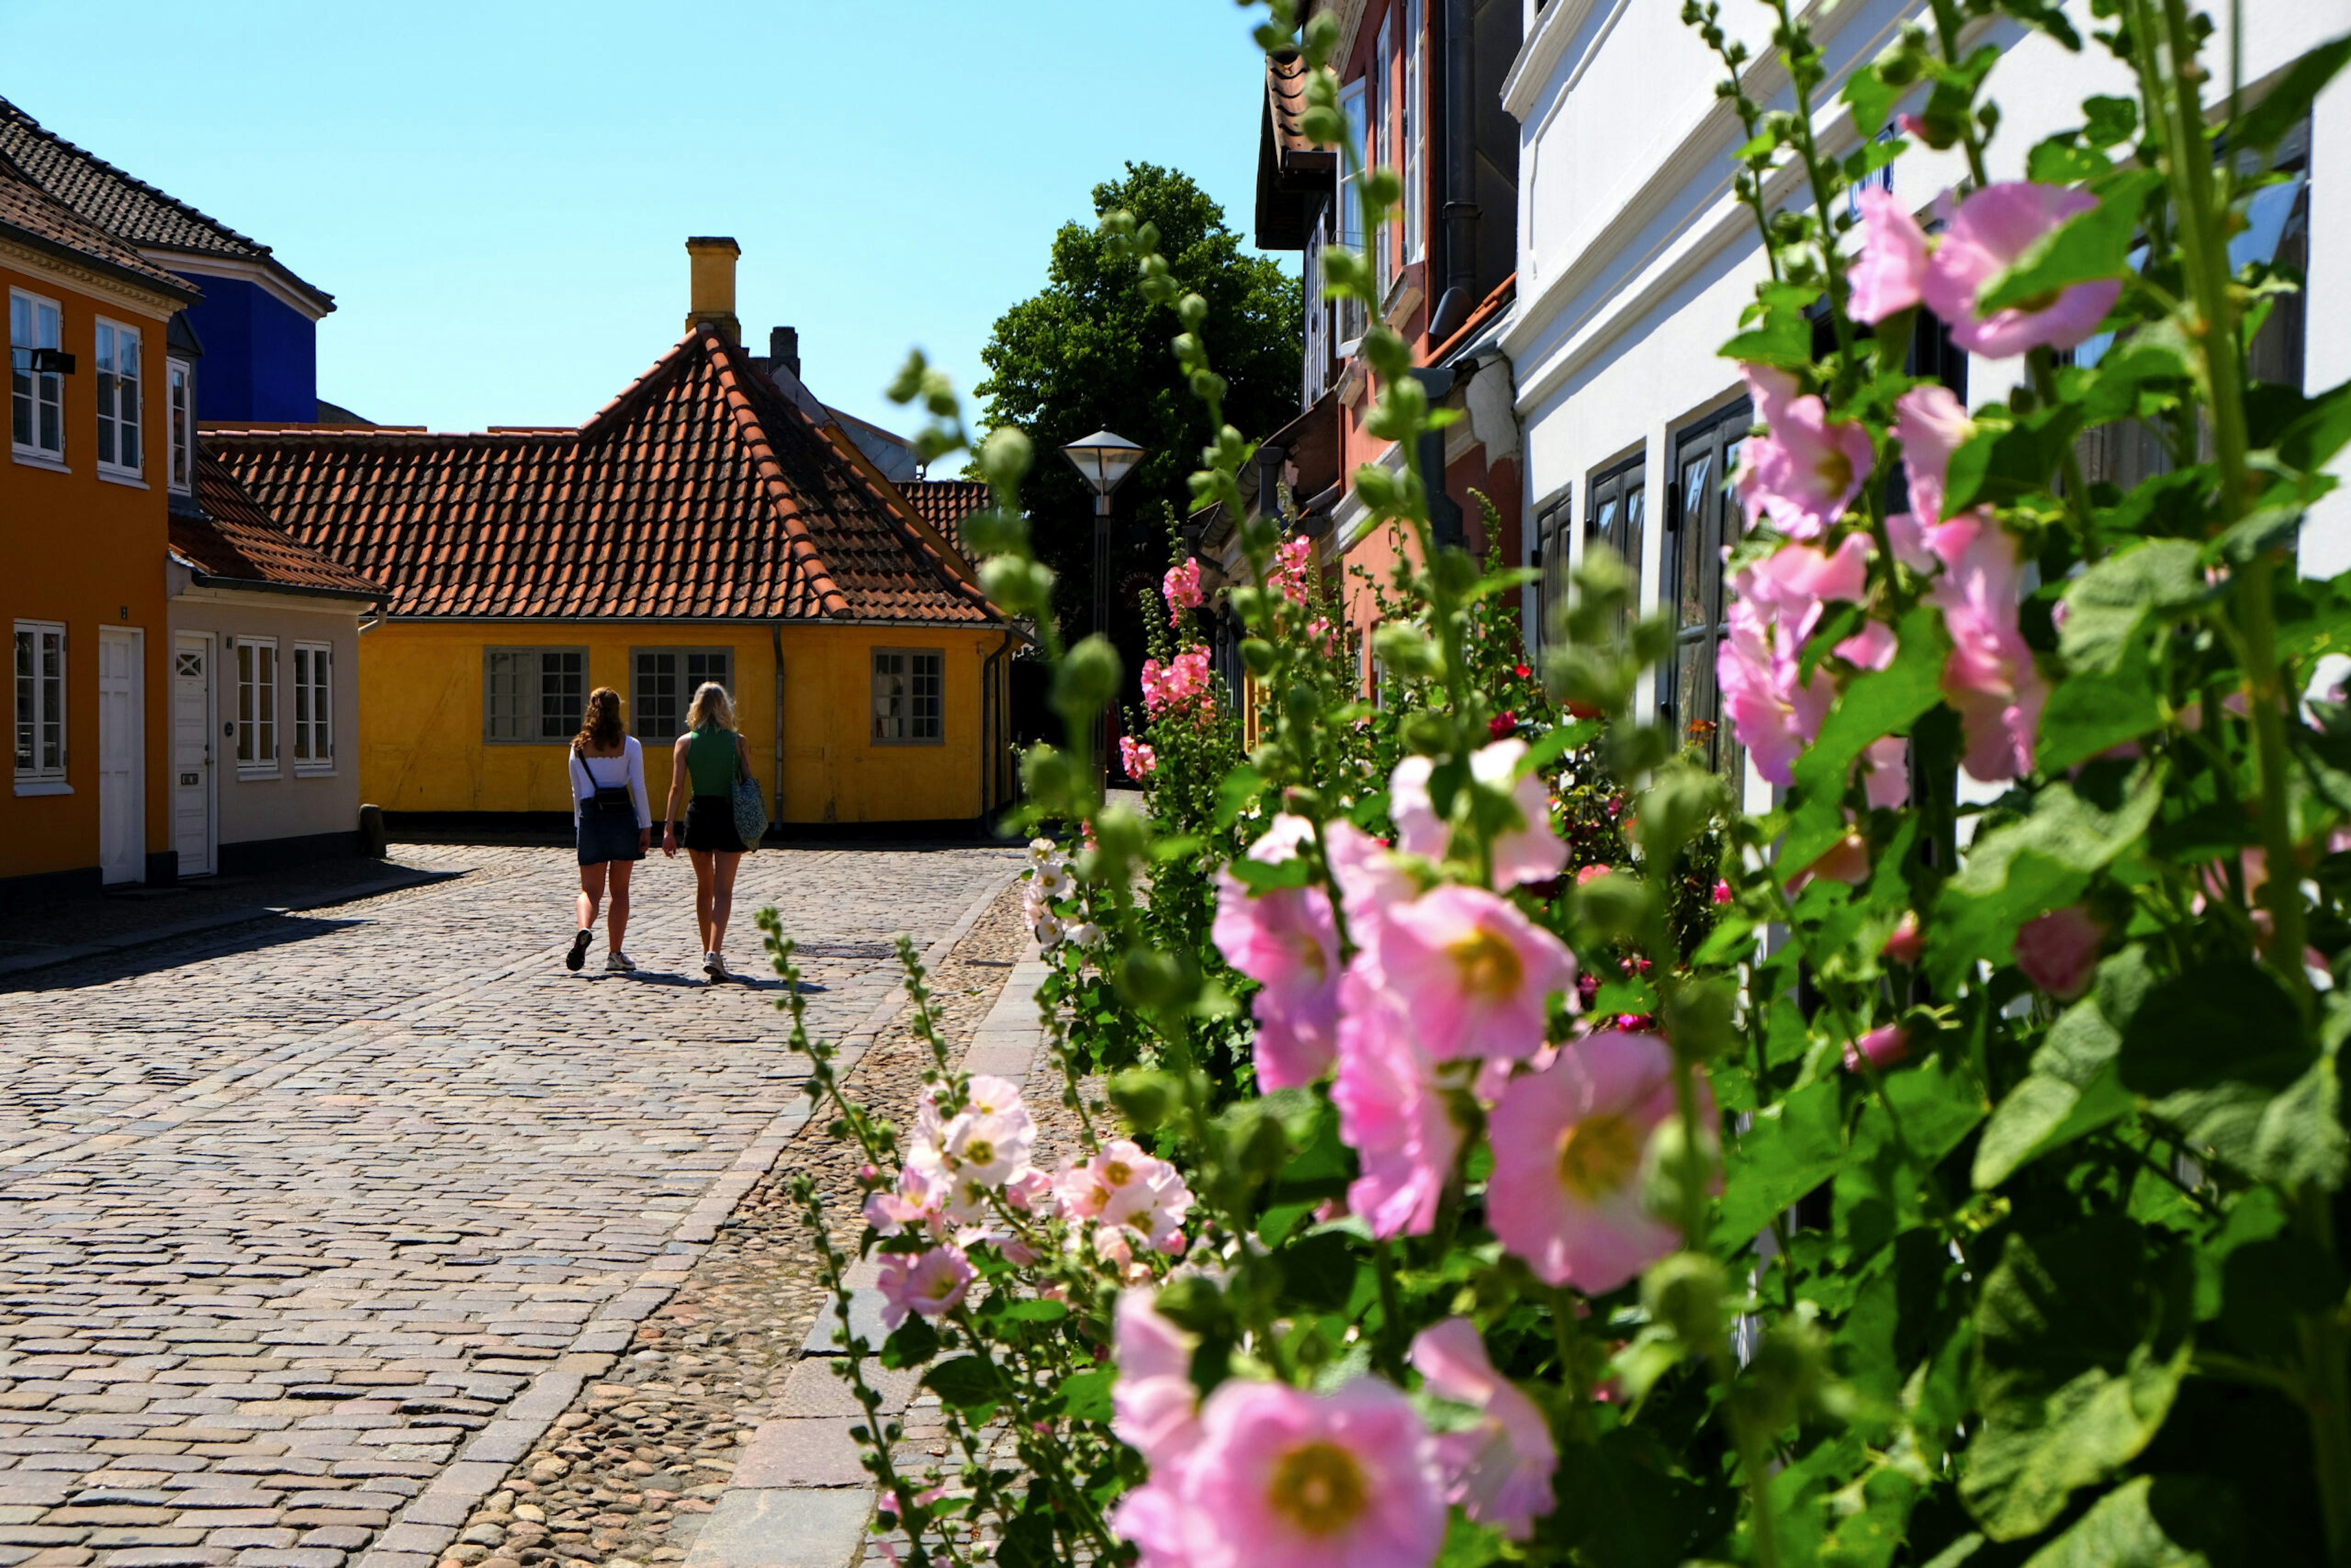
[[[320,395],[381,423],[578,423],[677,341],[686,235],[748,341],[891,428],[910,346],[966,395],[1126,160],[1248,230],[1262,75],[1230,0],[0,0],[0,96],[336,296]]]

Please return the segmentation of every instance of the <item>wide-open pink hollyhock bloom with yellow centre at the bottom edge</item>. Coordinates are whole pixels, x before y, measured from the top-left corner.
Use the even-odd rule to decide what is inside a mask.
[[[1176,1495],[1190,1568],[1427,1568],[1446,1537],[1429,1432],[1378,1378],[1335,1394],[1227,1378]]]

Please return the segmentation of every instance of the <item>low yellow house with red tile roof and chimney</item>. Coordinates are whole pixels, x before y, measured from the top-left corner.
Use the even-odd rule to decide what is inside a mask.
[[[985,818],[1013,785],[1016,632],[797,376],[743,353],[734,242],[689,249],[686,336],[576,430],[207,425],[301,543],[388,588],[362,799],[569,811],[567,745],[611,686],[658,809],[668,741],[717,679],[778,823]]]

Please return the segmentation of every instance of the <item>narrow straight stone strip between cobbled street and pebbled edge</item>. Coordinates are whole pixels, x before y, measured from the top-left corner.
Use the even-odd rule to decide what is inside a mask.
[[[947,959],[947,954],[955,952],[955,945],[964,940],[976,924],[980,924],[980,914],[987,912],[987,905],[997,900],[997,896],[1004,891],[1004,884],[1011,882],[1016,872],[1018,867],[1006,865],[1002,877],[987,879],[987,884],[980,889],[980,896],[971,900],[971,907],[964,910],[964,917],[955,924],[955,929],[950,929],[947,936],[936,940],[924,952],[922,957],[924,966],[938,969]],[[1013,980],[1004,983],[1006,994],[1011,992],[1018,976],[1020,969],[1016,966]],[[1025,1006],[1032,1006],[1030,999],[1034,997],[1034,990],[1037,987],[1032,983],[1023,992]],[[997,1004],[1002,1006],[1002,997],[997,999]],[[868,1013],[856,1030],[842,1037],[839,1041],[842,1072],[846,1072],[851,1065],[856,1065],[860,1056],[865,1056],[865,1048],[875,1041],[875,1037],[882,1030],[891,1025],[893,1018],[898,1018],[898,1009],[903,1006],[905,1006],[905,992],[900,990],[893,997],[877,1004],[875,1011]],[[990,1020],[994,1020],[994,1011],[990,1011]],[[555,1425],[557,1415],[571,1408],[571,1403],[581,1394],[581,1387],[585,1387],[590,1378],[602,1378],[607,1371],[611,1371],[611,1363],[618,1359],[623,1349],[628,1349],[630,1340],[635,1338],[637,1324],[658,1312],[661,1305],[677,1293],[677,1286],[686,1281],[686,1274],[694,1269],[694,1265],[701,1262],[705,1251],[710,1251],[710,1244],[717,1239],[717,1227],[726,1220],[729,1213],[734,1213],[734,1206],[743,1201],[743,1194],[750,1192],[755,1185],[759,1185],[769,1166],[773,1166],[776,1159],[783,1154],[783,1150],[792,1143],[792,1133],[797,1133],[809,1121],[811,1110],[813,1107],[809,1105],[806,1095],[799,1095],[795,1105],[778,1112],[776,1119],[769,1121],[757,1138],[743,1145],[743,1152],[736,1157],[734,1166],[729,1166],[726,1173],[710,1185],[703,1199],[694,1208],[689,1208],[686,1215],[670,1232],[670,1239],[661,1248],[661,1255],[656,1258],[654,1267],[637,1274],[635,1284],[628,1291],[604,1302],[597,1309],[597,1314],[588,1319],[581,1333],[571,1340],[571,1349],[564,1352],[555,1361],[555,1366],[538,1373],[522,1394],[508,1401],[496,1420],[475,1432],[473,1441],[465,1443],[458,1458],[449,1467],[444,1467],[437,1476],[433,1476],[433,1483],[426,1486],[426,1490],[421,1490],[416,1497],[411,1497],[404,1509],[400,1509],[397,1519],[393,1519],[393,1523],[381,1535],[376,1535],[376,1540],[369,1544],[364,1554],[353,1559],[350,1568],[435,1568],[440,1554],[449,1549],[449,1544],[456,1540],[456,1533],[465,1526],[465,1519],[473,1516],[473,1509],[477,1509],[482,1500],[489,1497],[491,1490],[496,1490],[496,1486],[513,1472],[517,1460],[529,1455],[545,1439],[548,1427]],[[844,1441],[846,1441],[846,1422],[844,1422]],[[752,1446],[757,1446],[757,1439],[752,1439]],[[745,1450],[745,1458],[738,1460],[738,1467],[748,1458],[750,1450]],[[731,1495],[734,1490],[726,1493],[726,1497]],[[722,1523],[719,1516],[726,1512],[724,1509],[726,1497],[722,1497],[719,1507],[712,1509],[710,1516],[703,1521],[703,1528],[696,1535],[694,1544],[696,1554],[703,1549],[701,1542],[712,1535],[712,1526]],[[853,1526],[856,1528],[853,1540],[863,1542],[865,1512],[870,1512],[872,1507],[870,1495],[828,1490],[823,1493],[823,1497],[832,1500],[856,1497],[860,1512]],[[823,1509],[818,1509],[818,1514],[823,1514]],[[766,1528],[769,1526],[764,1523],[759,1526],[759,1530]],[[755,1535],[759,1530],[755,1530]],[[731,1516],[719,1528],[719,1535],[741,1535],[741,1533],[743,1528],[734,1523]],[[818,1540],[828,1537],[785,1535],[781,1549],[788,1552],[797,1544]],[[726,1561],[734,1563],[736,1559]],[[764,1568],[802,1568],[804,1561],[813,1563],[818,1559],[762,1556],[757,1561],[762,1561]],[[851,1561],[851,1559],[835,1559],[835,1561]],[[698,1561],[696,1568],[701,1568]]]

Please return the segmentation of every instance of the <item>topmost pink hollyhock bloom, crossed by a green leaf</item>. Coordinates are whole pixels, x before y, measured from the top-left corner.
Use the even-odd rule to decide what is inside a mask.
[[[2005,181],[1984,186],[1951,214],[1925,273],[1925,303],[1951,327],[1968,353],[2005,360],[2034,346],[2074,348],[2121,299],[2121,280],[2104,277],[2055,289],[1977,315],[1975,301],[2048,233],[2097,207],[2088,190]]]

